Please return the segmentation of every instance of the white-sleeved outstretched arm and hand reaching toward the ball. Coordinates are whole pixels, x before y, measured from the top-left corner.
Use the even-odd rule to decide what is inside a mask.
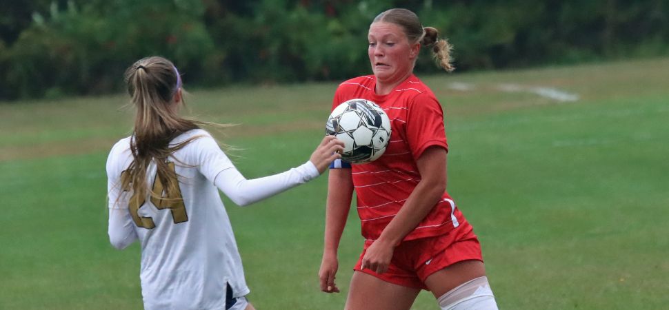
[[[250,205],[317,178],[335,158],[340,157],[339,152],[342,149],[341,141],[326,136],[314,150],[310,160],[299,167],[280,174],[247,180],[232,166],[221,171],[214,179],[214,184],[235,204]]]

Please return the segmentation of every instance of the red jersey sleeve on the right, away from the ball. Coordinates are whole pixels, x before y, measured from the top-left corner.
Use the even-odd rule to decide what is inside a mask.
[[[446,131],[443,127],[443,111],[433,94],[419,94],[410,103],[406,122],[406,138],[415,160],[433,145],[443,147],[448,152]]]

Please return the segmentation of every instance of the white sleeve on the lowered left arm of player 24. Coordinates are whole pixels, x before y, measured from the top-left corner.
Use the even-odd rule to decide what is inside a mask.
[[[125,249],[134,240],[137,240],[137,232],[134,231],[134,222],[130,211],[128,211],[128,201],[121,190],[121,171],[116,167],[118,165],[116,154],[117,147],[112,148],[107,158],[107,196],[109,204],[109,242],[117,249]]]

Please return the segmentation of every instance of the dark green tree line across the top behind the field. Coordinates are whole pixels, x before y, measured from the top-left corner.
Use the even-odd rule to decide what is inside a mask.
[[[0,99],[105,94],[149,55],[188,85],[333,81],[370,72],[366,32],[408,8],[457,70],[669,54],[666,0],[31,0],[0,11]],[[421,56],[419,72],[437,72]]]

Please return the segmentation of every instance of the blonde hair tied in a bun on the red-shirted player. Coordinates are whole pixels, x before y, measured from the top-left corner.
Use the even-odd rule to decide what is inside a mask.
[[[409,43],[421,43],[421,46],[432,45],[432,53],[439,66],[447,72],[455,70],[455,67],[451,64],[452,56],[450,56],[450,52],[452,46],[450,43],[439,37],[439,30],[436,28],[423,27],[414,12],[403,8],[394,8],[377,15],[372,23],[378,21],[399,25],[409,39]]]

